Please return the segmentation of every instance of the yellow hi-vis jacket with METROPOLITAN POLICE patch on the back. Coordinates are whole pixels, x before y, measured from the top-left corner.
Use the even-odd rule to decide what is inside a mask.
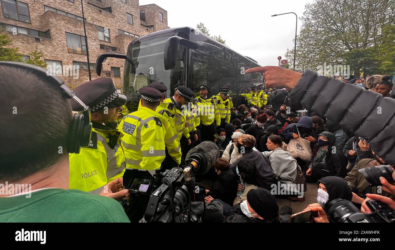
[[[146,107],[124,117],[120,126],[124,136],[126,168],[155,170],[165,159],[166,126],[160,114]]]

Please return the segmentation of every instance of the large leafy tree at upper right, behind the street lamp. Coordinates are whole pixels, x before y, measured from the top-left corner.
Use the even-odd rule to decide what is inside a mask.
[[[377,46],[384,43],[378,31],[382,29],[383,34],[386,31],[387,40],[391,38],[391,28],[386,25],[395,25],[395,2],[316,0],[306,5],[301,20],[303,25],[297,37],[297,70],[317,70],[319,65],[326,63],[350,65],[351,72],[359,72],[361,68],[374,71],[382,69],[380,65],[386,60],[378,60],[374,55]],[[391,51],[390,46],[391,42],[387,42],[382,49]],[[286,58],[293,64],[293,49],[287,49]]]

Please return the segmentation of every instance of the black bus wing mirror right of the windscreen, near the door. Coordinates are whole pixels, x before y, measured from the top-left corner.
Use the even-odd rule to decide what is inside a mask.
[[[164,66],[165,70],[170,70],[175,67],[177,60],[177,52],[180,45],[184,45],[188,49],[198,49],[199,44],[190,40],[181,38],[179,36],[172,36],[167,39],[164,51]]]

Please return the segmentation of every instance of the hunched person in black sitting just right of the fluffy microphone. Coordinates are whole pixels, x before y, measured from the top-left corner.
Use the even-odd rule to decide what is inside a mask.
[[[206,190],[205,201],[211,203],[214,199],[220,202],[224,206],[224,214],[227,214],[237,194],[239,176],[235,171],[229,170],[229,162],[224,158],[218,158],[213,167],[218,174],[218,180],[210,190]]]

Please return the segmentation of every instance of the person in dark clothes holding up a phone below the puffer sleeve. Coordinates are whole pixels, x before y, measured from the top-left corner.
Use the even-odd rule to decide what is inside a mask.
[[[356,136],[351,137],[346,145],[344,145],[343,154],[348,159],[348,171],[350,171],[361,159],[374,159],[369,143],[363,140],[363,138]]]

